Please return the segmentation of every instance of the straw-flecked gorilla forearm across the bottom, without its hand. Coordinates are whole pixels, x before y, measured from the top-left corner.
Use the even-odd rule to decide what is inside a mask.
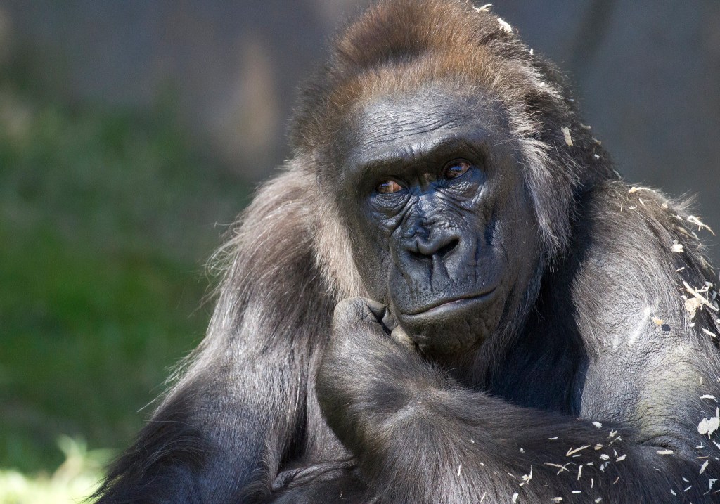
[[[426,397],[385,420],[378,439],[365,440],[362,467],[391,502],[468,503],[484,495],[509,502],[518,492],[522,502],[612,502],[623,495],[628,502],[662,503],[673,499],[671,489],[680,495],[685,487],[697,502],[707,490],[700,464],[658,455],[659,447],[636,445],[622,433],[611,438],[609,428],[518,408],[483,392],[435,390]],[[413,498],[406,500],[408,494]]]

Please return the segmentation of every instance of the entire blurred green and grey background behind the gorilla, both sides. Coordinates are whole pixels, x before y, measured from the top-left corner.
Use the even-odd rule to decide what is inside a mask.
[[[88,495],[129,444],[202,338],[204,261],[288,155],[297,87],[365,4],[0,0],[0,504]],[[570,74],[618,171],[720,228],[720,1],[494,10]]]

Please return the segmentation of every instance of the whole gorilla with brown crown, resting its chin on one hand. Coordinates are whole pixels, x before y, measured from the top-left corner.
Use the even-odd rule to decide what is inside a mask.
[[[720,502],[708,228],[467,0],[384,0],[100,503]]]

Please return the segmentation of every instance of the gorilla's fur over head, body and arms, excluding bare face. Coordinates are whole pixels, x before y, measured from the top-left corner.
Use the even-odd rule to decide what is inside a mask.
[[[326,361],[320,394],[335,397],[329,380],[348,394],[338,404],[366,405],[356,418],[371,435],[325,406],[333,433],[315,374],[334,307],[372,287],[332,197],[346,148],[336,132],[357,104],[428,82],[502,111],[539,222],[539,281],[523,316],[453,368],[389,339],[339,338],[356,359]],[[207,337],[99,502],[720,502],[720,483],[709,484],[720,439],[697,431],[717,407],[701,396],[720,397],[717,338],[703,329],[720,324],[709,307],[691,320],[681,297],[683,282],[716,282],[697,228],[683,204],[618,179],[559,73],[494,15],[462,0],[383,2],[338,40],[292,138],[292,161],[220,251]],[[520,485],[523,474],[532,478]]]

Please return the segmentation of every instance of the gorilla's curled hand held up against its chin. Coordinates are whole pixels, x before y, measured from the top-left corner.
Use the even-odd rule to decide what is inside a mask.
[[[316,388],[328,425],[356,456],[427,380],[436,382],[435,372],[387,307],[360,297],[338,303]]]

